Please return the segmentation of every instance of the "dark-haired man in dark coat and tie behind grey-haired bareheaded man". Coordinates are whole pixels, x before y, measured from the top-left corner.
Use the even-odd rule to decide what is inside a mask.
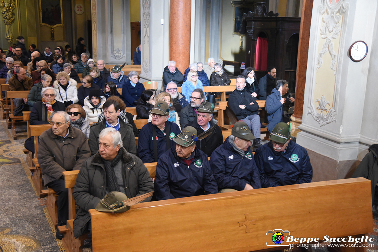
[[[126,124],[119,113],[121,112],[121,107],[115,100],[107,100],[104,105],[102,105],[104,110],[105,120],[91,125],[91,130],[89,133],[88,144],[91,149],[91,155],[95,155],[98,152],[98,136],[104,128],[115,128],[121,133],[122,145],[130,153],[138,155],[136,150],[135,136],[133,132],[133,127],[130,124]]]

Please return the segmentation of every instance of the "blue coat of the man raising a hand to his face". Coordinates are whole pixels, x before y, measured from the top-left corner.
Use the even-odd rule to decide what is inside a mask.
[[[282,103],[281,93],[274,88],[272,94],[266,98],[265,111],[268,113],[268,125],[266,128],[269,132],[272,132],[274,126],[276,126],[282,120]]]

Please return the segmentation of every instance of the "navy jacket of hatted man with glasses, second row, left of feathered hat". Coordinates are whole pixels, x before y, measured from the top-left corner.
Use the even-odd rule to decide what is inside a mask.
[[[172,140],[175,136],[180,134],[181,130],[177,124],[174,122],[166,121],[166,128],[169,125],[169,133],[166,133],[164,136],[163,132],[159,130],[158,127],[149,122],[148,124],[144,125],[142,129],[139,131],[139,139],[138,139],[138,154],[139,158],[143,161],[143,163],[152,163],[155,162],[155,152],[153,150],[153,133],[152,127],[155,127],[156,130],[156,137],[158,138],[158,158],[167,151],[167,140],[166,137],[169,137],[170,146],[174,145],[174,141]],[[165,129],[164,129],[165,130]],[[171,135],[172,134],[172,135]]]

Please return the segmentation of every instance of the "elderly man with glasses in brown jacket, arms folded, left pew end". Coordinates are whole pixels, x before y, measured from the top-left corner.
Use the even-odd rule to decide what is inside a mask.
[[[87,137],[81,130],[70,125],[70,116],[64,111],[51,115],[52,127],[39,137],[38,163],[43,181],[58,195],[58,226],[68,220],[68,189],[64,186],[64,171],[80,170],[90,157]],[[63,235],[56,231],[56,238]]]

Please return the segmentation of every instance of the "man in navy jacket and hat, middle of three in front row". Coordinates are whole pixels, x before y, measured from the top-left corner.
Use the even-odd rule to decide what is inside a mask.
[[[236,122],[231,132],[210,158],[219,192],[261,188],[260,173],[251,150],[251,140],[255,137],[245,122]]]

